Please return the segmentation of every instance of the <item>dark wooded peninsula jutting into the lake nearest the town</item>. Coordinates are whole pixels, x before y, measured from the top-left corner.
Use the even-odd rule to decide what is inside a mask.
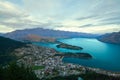
[[[82,59],[91,59],[92,56],[88,53],[62,53],[62,54],[55,54],[54,56],[63,56],[66,58],[82,58]]]

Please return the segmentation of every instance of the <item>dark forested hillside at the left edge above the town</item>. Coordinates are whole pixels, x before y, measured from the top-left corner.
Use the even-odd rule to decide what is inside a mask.
[[[25,46],[25,43],[0,36],[0,64],[14,60],[12,51],[22,46]]]

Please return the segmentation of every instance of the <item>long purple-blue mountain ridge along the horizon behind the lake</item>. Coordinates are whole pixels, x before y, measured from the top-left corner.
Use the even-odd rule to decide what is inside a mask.
[[[25,29],[25,30],[16,30],[10,33],[5,34],[5,37],[9,37],[15,40],[24,40],[25,37],[29,35],[36,35],[42,37],[49,38],[73,38],[73,37],[87,37],[94,38],[98,35],[88,34],[88,33],[80,33],[80,32],[68,32],[68,31],[59,31],[59,30],[50,30],[50,29],[42,29],[42,28],[34,28],[34,29]]]

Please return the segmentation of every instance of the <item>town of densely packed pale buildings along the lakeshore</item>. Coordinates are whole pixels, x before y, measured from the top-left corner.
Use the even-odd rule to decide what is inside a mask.
[[[33,67],[37,77],[49,79],[56,76],[70,76],[85,74],[86,71],[118,77],[120,74],[104,71],[96,68],[83,67],[81,65],[65,63],[63,57],[54,56],[59,52],[54,49],[27,44],[27,47],[18,48],[14,54],[19,57],[18,63],[24,63]],[[59,53],[60,54],[60,53]]]

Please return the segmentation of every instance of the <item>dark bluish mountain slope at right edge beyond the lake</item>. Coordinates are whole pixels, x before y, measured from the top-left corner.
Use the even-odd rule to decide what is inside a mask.
[[[104,34],[100,36],[98,40],[107,43],[120,44],[120,32]]]

